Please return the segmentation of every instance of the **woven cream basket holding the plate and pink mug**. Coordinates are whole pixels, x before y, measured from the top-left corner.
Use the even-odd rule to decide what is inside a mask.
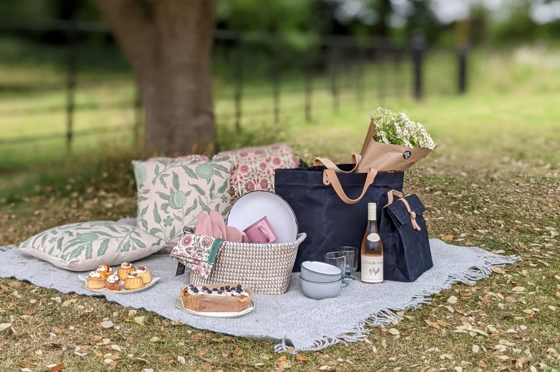
[[[193,284],[240,283],[250,286],[254,293],[283,294],[290,285],[297,247],[305,233],[290,243],[232,243],[224,242],[209,277],[194,272]]]

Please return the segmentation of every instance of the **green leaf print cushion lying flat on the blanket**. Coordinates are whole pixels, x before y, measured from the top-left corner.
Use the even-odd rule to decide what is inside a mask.
[[[101,263],[120,265],[136,261],[165,246],[165,242],[134,226],[96,221],[63,225],[45,230],[18,249],[72,271],[95,270]]]

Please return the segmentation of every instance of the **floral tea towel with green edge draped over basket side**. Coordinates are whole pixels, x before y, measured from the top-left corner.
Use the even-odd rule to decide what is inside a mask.
[[[212,272],[223,242],[223,239],[209,235],[185,234],[175,243],[170,256],[206,279]]]

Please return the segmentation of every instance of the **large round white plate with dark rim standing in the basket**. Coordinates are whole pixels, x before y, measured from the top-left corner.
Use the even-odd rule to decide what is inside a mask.
[[[286,200],[270,191],[251,191],[241,196],[231,207],[226,224],[242,232],[264,216],[276,232],[275,243],[297,239],[296,215]]]

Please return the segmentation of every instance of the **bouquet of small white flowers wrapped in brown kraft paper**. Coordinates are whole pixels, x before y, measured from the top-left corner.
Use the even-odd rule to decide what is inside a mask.
[[[404,171],[435,147],[422,124],[410,121],[403,113],[397,115],[379,107],[372,112],[356,172],[367,172],[370,168],[380,172]]]

